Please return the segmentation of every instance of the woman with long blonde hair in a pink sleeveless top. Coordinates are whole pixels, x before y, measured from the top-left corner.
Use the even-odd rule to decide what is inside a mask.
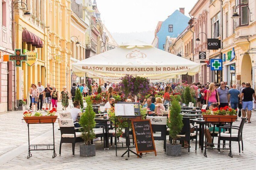
[[[206,105],[210,107],[212,103],[218,103],[219,104],[219,93],[218,90],[215,89],[215,84],[210,83],[209,90],[207,90],[206,93]]]

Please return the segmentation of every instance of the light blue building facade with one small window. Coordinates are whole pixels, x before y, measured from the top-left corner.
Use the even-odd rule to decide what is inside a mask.
[[[160,30],[156,33],[158,37],[158,48],[164,50],[163,45],[166,41],[166,36],[176,38],[184,31],[188,25],[189,17],[185,16],[179,10],[174,11],[163,23]]]

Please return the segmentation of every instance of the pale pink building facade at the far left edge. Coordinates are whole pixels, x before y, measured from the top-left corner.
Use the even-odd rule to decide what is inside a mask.
[[[11,32],[11,0],[0,0],[0,113],[13,110],[14,65],[3,55],[14,54]]]

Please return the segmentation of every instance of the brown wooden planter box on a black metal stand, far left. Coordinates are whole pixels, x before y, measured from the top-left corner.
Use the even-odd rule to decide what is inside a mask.
[[[58,116],[30,116],[23,117],[26,123],[54,123]]]

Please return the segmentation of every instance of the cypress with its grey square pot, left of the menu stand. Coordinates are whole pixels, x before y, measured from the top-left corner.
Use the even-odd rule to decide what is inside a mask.
[[[85,112],[82,114],[79,124],[82,127],[82,136],[85,144],[80,145],[80,156],[95,156],[96,148],[94,144],[91,144],[91,141],[95,138],[93,128],[95,128],[95,112],[92,109],[91,101],[87,102],[87,107]]]

